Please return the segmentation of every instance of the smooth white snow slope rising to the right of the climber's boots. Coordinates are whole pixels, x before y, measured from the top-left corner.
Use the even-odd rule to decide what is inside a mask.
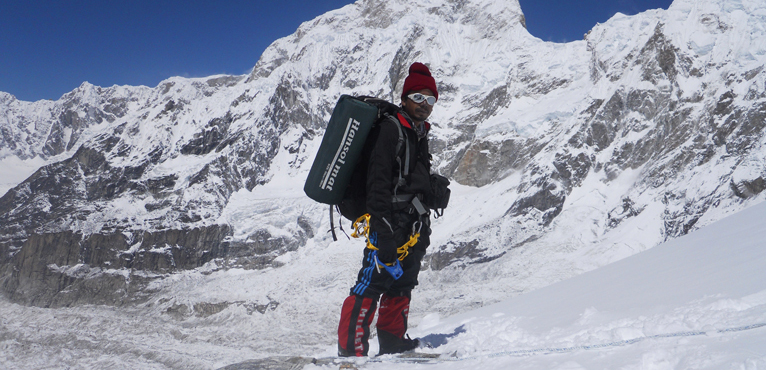
[[[429,352],[446,359],[397,368],[764,368],[764,219],[761,203],[546,288],[454,317],[426,316],[412,334],[438,344]],[[385,361],[365,368],[390,368]]]

